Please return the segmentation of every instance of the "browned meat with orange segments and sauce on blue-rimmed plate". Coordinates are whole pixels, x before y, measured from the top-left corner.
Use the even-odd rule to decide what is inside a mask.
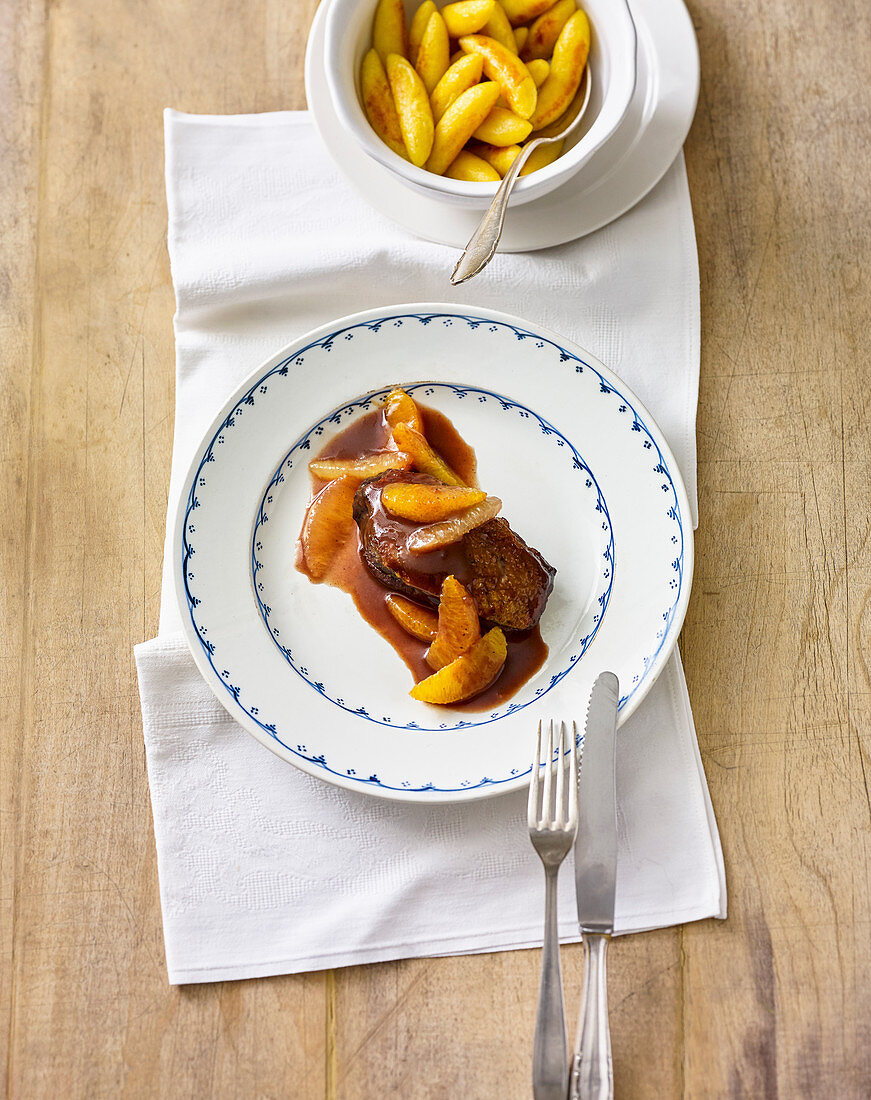
[[[541,668],[556,571],[477,487],[445,416],[395,386],[309,471],[297,568],[354,598],[409,667],[414,698],[484,711]]]

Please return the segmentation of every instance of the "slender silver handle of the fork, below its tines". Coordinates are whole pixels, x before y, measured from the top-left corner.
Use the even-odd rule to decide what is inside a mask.
[[[544,948],[532,1046],[532,1096],[534,1100],[565,1100],[569,1087],[569,1054],[565,1042],[560,932],[556,923],[556,875],[559,866],[544,868]]]

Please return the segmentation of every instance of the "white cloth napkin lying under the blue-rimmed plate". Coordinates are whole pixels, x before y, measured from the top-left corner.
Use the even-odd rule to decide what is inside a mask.
[[[327,320],[445,298],[576,340],[651,408],[695,502],[698,274],[682,158],[613,226],[500,255],[452,289],[455,252],[410,238],[338,175],[306,113],[166,113],[175,284],[169,515],[200,436],[258,363]],[[324,382],[329,405],[329,380]],[[541,942],[522,792],[388,803],[298,772],[200,679],[164,570],[136,648],[169,980],[218,981]],[[724,916],[723,856],[676,652],[618,738],[617,924]],[[571,873],[560,921],[577,938]]]

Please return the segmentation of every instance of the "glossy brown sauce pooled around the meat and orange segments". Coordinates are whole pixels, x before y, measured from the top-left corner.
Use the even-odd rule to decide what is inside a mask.
[[[427,408],[418,403],[423,417],[425,433],[430,444],[438,451],[452,470],[456,471],[466,485],[477,485],[475,452],[456,431],[454,426],[442,413]],[[351,459],[360,454],[388,449],[390,429],[381,409],[367,413],[350,424],[334,436],[313,458],[318,459]],[[311,479],[311,498],[327,483],[318,477]],[[397,525],[398,528],[411,531],[416,524],[407,524],[389,516],[384,509],[378,512],[378,521]],[[326,576],[315,581],[306,569],[305,559],[297,547],[296,568],[306,573],[312,583],[331,584],[346,592],[363,616],[375,630],[386,638],[396,652],[408,666],[415,683],[432,675],[433,670],[427,664],[423,654],[427,642],[418,641],[399,626],[387,609],[387,588],[379,584],[366,569],[360,553],[360,532],[356,524],[350,537],[335,556]],[[415,569],[418,572],[453,573],[460,583],[468,579],[468,564],[465,554],[456,547],[445,547],[427,554],[415,556]],[[438,592],[438,584],[434,591]],[[508,656],[501,673],[486,691],[465,703],[452,704],[452,710],[481,712],[494,710],[509,700],[544,663],[548,647],[541,637],[538,626],[522,635],[506,636]]]

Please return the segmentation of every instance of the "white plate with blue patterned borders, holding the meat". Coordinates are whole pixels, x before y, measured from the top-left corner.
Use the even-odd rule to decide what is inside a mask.
[[[493,711],[412,700],[350,596],[294,565],[308,460],[396,383],[450,417],[482,486],[556,569],[548,658]],[[693,563],[675,461],[628,387],[547,330],[453,305],[357,314],[269,359],[207,431],[173,538],[188,644],[233,717],[312,776],[410,801],[522,787],[536,723],[583,725],[604,669],[625,719],[674,647]]]

